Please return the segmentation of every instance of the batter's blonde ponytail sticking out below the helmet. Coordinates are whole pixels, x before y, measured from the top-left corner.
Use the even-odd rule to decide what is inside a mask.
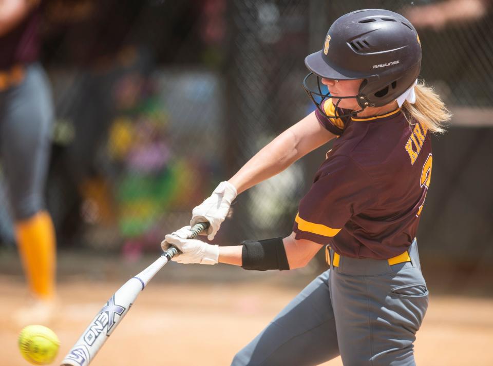
[[[403,112],[410,124],[418,121],[430,132],[444,133],[447,122],[452,114],[433,88],[419,81],[414,87],[416,102],[410,104],[407,100],[403,104]]]

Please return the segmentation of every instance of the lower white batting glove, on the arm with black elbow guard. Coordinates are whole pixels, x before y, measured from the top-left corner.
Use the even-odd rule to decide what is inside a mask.
[[[201,240],[187,239],[192,235],[190,228],[185,226],[172,234],[166,235],[161,243],[161,248],[166,250],[171,245],[178,248],[181,253],[171,259],[174,262],[186,265],[189,263],[215,265],[219,260],[219,247],[204,243]]]

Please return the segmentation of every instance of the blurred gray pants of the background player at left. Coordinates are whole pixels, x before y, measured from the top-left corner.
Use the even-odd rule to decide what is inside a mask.
[[[0,92],[0,152],[16,220],[44,209],[43,190],[51,144],[53,105],[39,64],[21,84]]]

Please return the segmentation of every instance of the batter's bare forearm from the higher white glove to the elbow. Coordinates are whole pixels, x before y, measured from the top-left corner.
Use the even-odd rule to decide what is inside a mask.
[[[290,130],[277,136],[245,164],[229,182],[239,193],[288,168],[300,156]]]

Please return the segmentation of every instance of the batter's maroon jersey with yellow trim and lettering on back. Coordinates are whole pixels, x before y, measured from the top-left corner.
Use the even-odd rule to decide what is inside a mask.
[[[330,99],[324,108],[333,115]],[[353,258],[402,254],[416,234],[430,184],[427,129],[409,124],[400,109],[365,118],[315,113],[338,138],[300,201],[296,239],[330,244]]]

